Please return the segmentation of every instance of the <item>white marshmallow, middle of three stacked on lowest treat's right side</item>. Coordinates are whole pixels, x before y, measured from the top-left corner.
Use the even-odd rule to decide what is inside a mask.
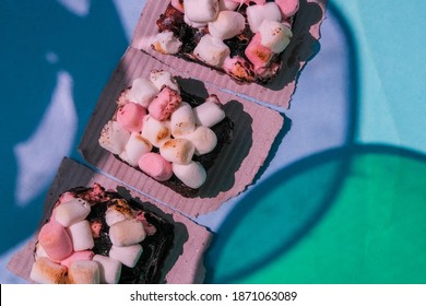
[[[126,247],[145,239],[146,233],[142,222],[135,219],[123,220],[109,227],[109,238],[113,245]]]

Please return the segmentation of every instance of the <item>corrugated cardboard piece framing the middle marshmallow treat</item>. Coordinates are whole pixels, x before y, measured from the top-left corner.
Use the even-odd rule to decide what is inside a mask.
[[[130,86],[133,79],[149,76],[153,69],[165,69],[179,76],[178,82],[192,94],[216,94],[224,104],[225,113],[235,123],[233,140],[225,145],[214,166],[209,169],[208,180],[200,188],[200,196],[197,198],[182,197],[118,161],[98,144],[104,125],[116,110],[116,99],[120,92]],[[275,110],[196,82],[189,74],[178,72],[134,48],[129,48],[100,94],[79,150],[88,163],[102,172],[187,215],[198,216],[216,210],[253,183],[283,127],[283,116]]]

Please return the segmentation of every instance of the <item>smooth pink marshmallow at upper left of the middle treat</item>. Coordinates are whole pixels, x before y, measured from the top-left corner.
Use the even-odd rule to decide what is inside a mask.
[[[117,122],[129,132],[140,132],[142,130],[142,119],[145,115],[145,108],[130,102],[118,109]]]

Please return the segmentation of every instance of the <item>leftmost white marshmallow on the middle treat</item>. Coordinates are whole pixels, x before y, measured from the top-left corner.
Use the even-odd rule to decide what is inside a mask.
[[[99,145],[113,154],[120,154],[129,138],[130,133],[127,130],[117,121],[109,120],[100,132]]]

